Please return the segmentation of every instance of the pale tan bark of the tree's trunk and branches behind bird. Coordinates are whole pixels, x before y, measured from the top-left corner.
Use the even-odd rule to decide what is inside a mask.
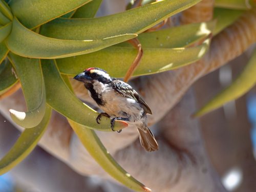
[[[202,5],[206,5],[204,2],[210,1],[203,1]],[[199,9],[202,7],[199,5]],[[160,150],[155,153],[143,151],[135,127],[128,127],[121,134],[98,132],[108,151],[127,172],[155,191],[225,191],[205,153],[198,123],[189,118],[195,110],[191,95],[170,110],[197,79],[225,65],[255,42],[255,20],[256,11],[247,12],[214,37],[209,52],[196,63],[132,81],[151,106],[154,115],[149,116],[148,122],[155,124],[158,130]],[[84,96],[84,88],[76,89],[76,93]],[[21,95],[19,91],[0,101],[0,111],[6,118],[10,119],[10,108],[25,110]],[[87,96],[83,98],[92,102]],[[65,118],[58,114],[53,115],[40,146],[82,175],[110,179],[86,152]]]

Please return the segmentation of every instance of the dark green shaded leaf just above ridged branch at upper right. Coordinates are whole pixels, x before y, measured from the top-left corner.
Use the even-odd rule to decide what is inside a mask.
[[[214,34],[219,33],[220,31],[225,29],[227,26],[231,25],[243,13],[244,11],[242,10],[215,8],[214,18],[217,19],[217,25],[214,29]]]

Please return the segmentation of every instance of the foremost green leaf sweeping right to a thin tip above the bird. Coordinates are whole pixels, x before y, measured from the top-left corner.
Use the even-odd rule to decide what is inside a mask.
[[[99,40],[62,40],[39,35],[13,19],[6,46],[13,53],[30,58],[63,58],[98,51],[136,37],[136,34],[112,36]]]

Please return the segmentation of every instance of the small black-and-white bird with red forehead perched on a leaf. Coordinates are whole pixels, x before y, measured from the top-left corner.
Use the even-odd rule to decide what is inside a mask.
[[[140,143],[145,150],[148,152],[158,150],[157,141],[147,127],[146,114],[152,115],[152,111],[129,84],[110,77],[100,68],[88,68],[76,75],[74,79],[84,83],[91,97],[104,111],[96,118],[97,123],[101,116],[112,118],[111,128],[113,130],[116,120],[129,121],[137,126]]]

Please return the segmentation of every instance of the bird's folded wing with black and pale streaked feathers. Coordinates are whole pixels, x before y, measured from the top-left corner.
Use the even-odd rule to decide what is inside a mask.
[[[127,83],[120,81],[120,80],[114,80],[113,81],[113,89],[116,93],[123,97],[131,98],[137,100],[141,105],[143,110],[147,114],[152,115],[152,111],[150,107],[146,104],[146,102],[142,99],[142,97]]]

